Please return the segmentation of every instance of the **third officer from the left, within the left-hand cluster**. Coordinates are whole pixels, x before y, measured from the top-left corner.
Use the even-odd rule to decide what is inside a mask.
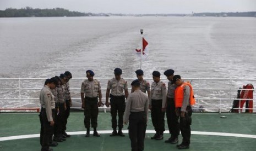
[[[66,98],[65,98],[65,88],[67,77],[65,74],[59,75],[61,79],[61,84],[57,87],[58,94],[58,115],[57,115],[57,137],[55,137],[56,142],[66,141],[66,138],[63,136],[63,131],[65,127],[65,119],[66,119]]]

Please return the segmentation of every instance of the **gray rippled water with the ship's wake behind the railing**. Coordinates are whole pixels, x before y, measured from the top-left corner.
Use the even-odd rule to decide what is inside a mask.
[[[135,78],[140,60],[134,49],[140,47],[140,29],[149,43],[149,57],[142,66],[146,78],[157,70],[166,79],[163,72],[172,68],[184,78],[256,79],[256,18],[112,16],[0,18],[0,78],[50,78],[64,71],[78,78],[85,77],[87,69],[92,69],[95,77],[106,78],[113,77],[116,67],[123,69],[123,77]],[[79,88],[80,83],[70,81],[73,88]],[[223,83],[229,82],[194,85],[219,88]],[[233,82],[233,88],[248,83],[256,86],[255,81]],[[21,86],[41,88],[42,84],[29,80]],[[17,88],[19,84],[0,81],[0,86]],[[19,97],[19,91],[0,94],[1,98]],[[21,92],[22,98],[37,98],[38,94],[38,90]],[[74,90],[73,96],[79,98],[79,90]],[[200,97],[224,96],[235,97],[236,91],[208,91]],[[228,108],[230,103],[224,105]],[[0,100],[0,107],[38,105],[38,100],[23,100],[21,104]]]

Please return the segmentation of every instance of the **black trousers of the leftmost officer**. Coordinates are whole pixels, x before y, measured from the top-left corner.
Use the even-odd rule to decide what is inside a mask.
[[[52,118],[55,119],[55,109],[52,109]],[[53,126],[50,125],[50,121],[47,119],[45,108],[41,108],[39,114],[41,130],[40,130],[40,144],[41,151],[48,150],[53,135]]]

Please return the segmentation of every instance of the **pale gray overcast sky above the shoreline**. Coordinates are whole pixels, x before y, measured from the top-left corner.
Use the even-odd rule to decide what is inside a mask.
[[[256,11],[256,0],[0,0],[6,8],[64,8],[91,13],[160,14]]]

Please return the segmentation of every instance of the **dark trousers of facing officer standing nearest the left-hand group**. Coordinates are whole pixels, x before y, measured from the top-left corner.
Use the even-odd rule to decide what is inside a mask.
[[[97,118],[99,114],[98,98],[85,97],[85,109],[84,109],[84,126],[85,128],[97,127]]]

